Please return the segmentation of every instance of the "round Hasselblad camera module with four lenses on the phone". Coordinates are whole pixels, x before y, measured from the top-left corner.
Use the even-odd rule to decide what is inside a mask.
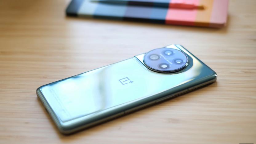
[[[187,55],[178,49],[160,48],[147,52],[143,62],[150,70],[160,73],[172,73],[188,65]]]

